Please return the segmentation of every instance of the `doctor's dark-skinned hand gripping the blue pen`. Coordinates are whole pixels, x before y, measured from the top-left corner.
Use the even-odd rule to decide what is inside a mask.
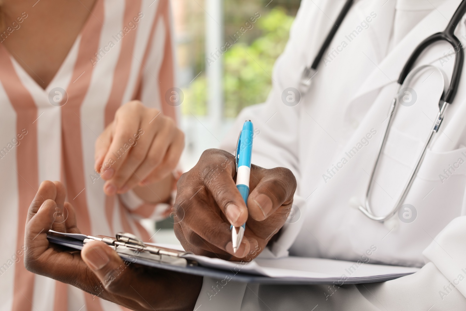
[[[178,180],[174,210],[175,234],[185,250],[238,260],[259,255],[287,219],[296,179],[283,167],[251,166],[247,206],[235,185],[234,156],[206,150],[199,162]],[[233,252],[230,224],[246,222],[239,249]],[[249,255],[249,256],[248,256]]]

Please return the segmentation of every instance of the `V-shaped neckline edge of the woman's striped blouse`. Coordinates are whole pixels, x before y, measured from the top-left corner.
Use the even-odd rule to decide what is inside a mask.
[[[10,51],[4,46],[2,45],[2,48],[5,49],[5,51],[7,52],[7,55],[10,57],[10,60],[16,65],[14,67],[18,68],[19,70],[22,71],[22,74],[24,74],[24,76],[26,77],[26,79],[29,81],[30,85],[33,85],[34,88],[40,90],[42,93],[44,94],[48,94],[48,92],[53,88],[52,86],[53,85],[56,85],[57,84],[57,81],[60,81],[63,76],[65,76],[67,73],[64,72],[64,68],[66,67],[66,65],[68,65],[69,62],[72,61],[72,56],[73,56],[73,51],[78,48],[79,46],[79,42],[81,41],[81,37],[82,37],[82,31],[83,29],[85,29],[88,24],[90,23],[90,19],[93,17],[93,18],[96,18],[94,13],[95,13],[95,10],[96,10],[96,7],[98,6],[98,2],[101,1],[101,0],[96,0],[94,2],[94,5],[92,7],[92,10],[89,12],[89,15],[88,17],[86,18],[86,21],[84,22],[84,24],[82,24],[82,28],[81,30],[79,31],[78,35],[76,36],[75,38],[75,41],[73,42],[73,44],[71,45],[71,48],[68,50],[68,53],[66,54],[65,56],[65,59],[62,61],[62,63],[60,64],[60,67],[58,68],[58,70],[55,72],[52,80],[50,80],[50,82],[48,83],[48,85],[44,88],[41,87],[41,85],[39,83],[37,83],[37,81],[34,80],[34,78],[29,75],[29,73],[26,71],[26,69],[24,69],[23,66],[21,66],[20,62],[18,62],[16,60],[16,58],[14,58],[14,56],[10,53]],[[14,52],[13,52],[14,53]],[[18,56],[19,58],[19,56]],[[21,58],[20,58],[21,60]],[[77,61],[77,59],[75,59],[75,62]],[[26,66],[27,64],[25,62],[23,62]],[[40,79],[40,78],[39,78]]]

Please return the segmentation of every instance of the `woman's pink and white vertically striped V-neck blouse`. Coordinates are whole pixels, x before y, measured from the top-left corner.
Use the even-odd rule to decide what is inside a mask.
[[[161,212],[134,194],[106,196],[94,143],[132,99],[176,119],[164,100],[174,86],[171,28],[169,0],[97,0],[46,90],[0,44],[0,310],[125,310],[28,272],[24,226],[41,181],[61,180],[82,233],[150,239],[138,219],[167,205]]]

